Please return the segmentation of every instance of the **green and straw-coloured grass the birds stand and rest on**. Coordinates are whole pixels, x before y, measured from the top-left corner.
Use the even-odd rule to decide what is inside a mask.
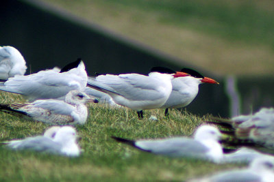
[[[1,102],[23,102],[20,96],[0,93]],[[150,115],[158,121],[149,120]],[[0,141],[42,134],[49,125],[0,112]],[[171,110],[145,110],[145,119],[124,108],[89,105],[85,125],[77,126],[84,149],[69,158],[32,151],[10,151],[0,146],[0,181],[184,181],[236,165],[216,165],[188,158],[169,158],[138,151],[115,142],[110,136],[160,138],[190,136],[205,117]]]

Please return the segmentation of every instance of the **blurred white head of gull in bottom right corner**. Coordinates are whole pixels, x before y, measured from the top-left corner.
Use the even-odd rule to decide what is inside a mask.
[[[258,157],[251,162],[250,167],[256,172],[272,171],[274,172],[274,160],[273,157]]]

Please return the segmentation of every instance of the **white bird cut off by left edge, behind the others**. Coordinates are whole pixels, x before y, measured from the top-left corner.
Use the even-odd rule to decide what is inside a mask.
[[[12,46],[0,46],[0,79],[24,75],[27,66],[21,53]]]

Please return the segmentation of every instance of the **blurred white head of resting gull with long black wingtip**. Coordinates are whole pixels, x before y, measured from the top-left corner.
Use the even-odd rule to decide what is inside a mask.
[[[221,132],[211,125],[201,125],[194,134],[196,140],[220,140]]]

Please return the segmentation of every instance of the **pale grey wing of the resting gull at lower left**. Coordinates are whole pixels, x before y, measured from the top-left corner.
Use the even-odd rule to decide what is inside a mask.
[[[11,141],[8,143],[8,147],[15,150],[45,151],[49,153],[60,153],[61,151],[60,145],[44,136],[30,137],[14,142]]]

